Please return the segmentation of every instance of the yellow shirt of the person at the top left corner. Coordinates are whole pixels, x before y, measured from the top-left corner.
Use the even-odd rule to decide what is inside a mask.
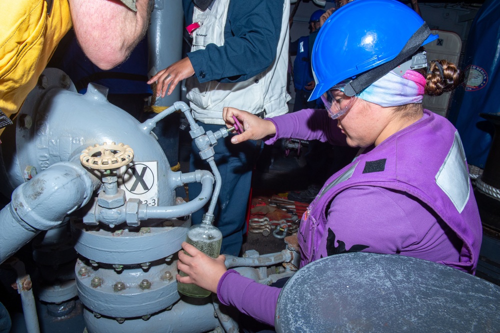
[[[70,27],[67,0],[2,0],[0,109],[7,116],[17,113]]]

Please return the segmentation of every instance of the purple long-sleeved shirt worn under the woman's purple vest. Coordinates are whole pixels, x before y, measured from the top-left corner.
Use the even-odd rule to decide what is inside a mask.
[[[431,117],[431,113],[426,111],[422,119],[411,126],[425,126],[418,123],[433,121]],[[345,136],[336,127],[337,122],[330,119],[325,110],[305,109],[267,120],[276,126],[276,134],[265,141],[267,144],[283,137],[345,144]],[[370,149],[366,150],[363,154],[369,155]],[[305,219],[307,216],[302,217],[301,223]],[[304,246],[299,239],[302,265],[317,259],[318,253],[334,254],[349,250],[397,253],[441,263],[462,259],[462,240],[455,232],[428,205],[401,190],[369,185],[346,188],[327,206],[326,221],[321,222],[319,217],[310,220],[309,216],[307,223],[316,220],[325,223],[321,226],[325,231],[316,236],[301,235],[302,241],[309,243],[309,251],[313,251],[304,253]],[[480,221],[478,223],[480,226]],[[302,226],[302,230],[307,229]],[[471,229],[475,226],[472,225]],[[321,238],[314,238],[318,236]],[[473,239],[473,236],[469,238]],[[477,241],[471,241],[474,248],[477,247]],[[274,324],[279,291],[279,288],[259,284],[234,270],[224,273],[217,286],[217,295],[223,304],[233,305],[241,312],[270,325]]]

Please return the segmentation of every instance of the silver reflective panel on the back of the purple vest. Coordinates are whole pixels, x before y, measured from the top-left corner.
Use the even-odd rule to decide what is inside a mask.
[[[465,152],[458,131],[436,176],[436,184],[446,193],[456,210],[462,212],[470,196]]]

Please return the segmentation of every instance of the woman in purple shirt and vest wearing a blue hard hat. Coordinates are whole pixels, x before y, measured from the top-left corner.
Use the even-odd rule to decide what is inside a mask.
[[[379,20],[377,17],[391,17]],[[343,37],[341,37],[343,36]],[[266,138],[319,139],[360,147],[333,174],[302,216],[297,234],[303,266],[327,255],[365,251],[407,255],[474,273],[481,222],[456,129],[423,109],[423,94],[460,82],[446,60],[427,65],[421,45],[435,40],[420,16],[395,0],[357,0],[335,11],[312,50],[316,86],[326,110],[260,119],[226,107],[245,131],[233,143]],[[177,267],[226,305],[273,325],[280,289],[226,270],[183,243]]]

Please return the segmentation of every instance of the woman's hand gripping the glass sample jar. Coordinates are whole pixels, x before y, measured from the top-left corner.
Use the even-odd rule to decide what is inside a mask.
[[[185,241],[182,242],[182,248],[188,254],[184,253],[183,250],[178,252],[177,268],[186,273],[187,276],[177,274],[175,276],[177,281],[194,283],[216,293],[218,281],[227,270],[224,264],[225,256],[221,254],[214,259]]]

